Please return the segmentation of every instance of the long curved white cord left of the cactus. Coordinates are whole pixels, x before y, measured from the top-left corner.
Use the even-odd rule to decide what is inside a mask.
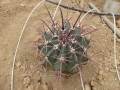
[[[20,41],[21,41],[21,38],[22,38],[22,35],[23,35],[23,32],[25,30],[25,27],[26,27],[26,24],[30,18],[30,16],[32,15],[32,13],[35,11],[35,9],[42,3],[44,2],[45,0],[42,0],[40,1],[35,7],[34,9],[31,11],[31,13],[29,14],[24,26],[23,26],[23,29],[21,31],[21,34],[20,34],[20,37],[19,37],[19,40],[18,40],[18,43],[17,43],[17,46],[16,46],[16,51],[15,51],[15,55],[14,55],[14,59],[13,59],[13,65],[12,65],[12,75],[11,75],[11,90],[13,90],[13,87],[14,87],[14,65],[15,65],[15,61],[16,61],[16,55],[17,55],[17,52],[18,52],[18,47],[19,47],[19,44],[20,44]]]

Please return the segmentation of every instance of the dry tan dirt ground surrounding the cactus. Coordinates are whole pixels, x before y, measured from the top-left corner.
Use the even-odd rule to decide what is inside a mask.
[[[11,69],[18,38],[26,18],[39,1],[0,0],[0,90],[10,90]],[[63,0],[62,3],[67,5],[66,1]],[[80,8],[82,4],[79,1],[72,0],[73,3],[70,5]],[[105,2],[105,0],[83,1],[83,3],[92,1],[100,10],[102,10]],[[56,6],[49,3],[46,3],[46,5],[53,14]],[[66,11],[63,10],[63,12],[65,13]],[[79,13],[75,11],[69,12],[69,16],[72,16],[72,22]],[[59,20],[59,13],[57,15],[55,20]],[[29,24],[42,29],[43,24],[37,20],[38,18],[49,20],[43,4],[36,9],[29,20]],[[103,66],[92,61],[87,65],[81,66],[84,79],[87,82],[84,83],[85,88],[86,90],[120,90],[120,83],[116,75],[113,57],[113,33],[98,15],[93,15],[88,24],[94,29],[102,26],[102,29],[94,34],[93,39],[96,41],[91,44],[91,49],[93,52],[102,52],[104,55],[109,56],[109,58],[96,55],[94,56],[94,60]],[[38,38],[40,38],[40,35],[36,32],[36,29],[31,27],[31,25],[27,25],[15,62],[14,90],[53,90],[54,88],[56,90],[82,90],[79,75],[74,75],[73,77],[63,76],[62,86],[55,86],[55,78],[52,77],[54,72],[51,68],[47,72],[42,69],[37,69],[31,76],[28,76],[28,72],[39,62],[40,58],[36,56],[36,49],[31,49],[35,45],[33,43],[26,43],[25,41],[36,40]],[[120,71],[119,46],[120,40],[117,39],[117,65]]]

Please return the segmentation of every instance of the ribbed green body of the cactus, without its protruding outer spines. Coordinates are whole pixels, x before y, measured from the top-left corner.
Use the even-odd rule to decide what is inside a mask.
[[[81,27],[73,27],[65,21],[62,28],[54,24],[51,30],[52,33],[43,33],[44,43],[38,45],[38,51],[45,56],[43,65],[49,64],[60,72],[77,72],[74,67],[88,61],[89,40],[82,35]]]

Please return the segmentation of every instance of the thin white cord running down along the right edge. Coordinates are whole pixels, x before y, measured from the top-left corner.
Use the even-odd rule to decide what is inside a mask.
[[[112,13],[112,12],[111,12]],[[120,74],[118,71],[118,67],[117,67],[117,58],[116,58],[116,21],[115,21],[115,15],[112,13],[113,15],[113,19],[114,19],[114,63],[115,63],[115,68],[116,68],[116,73],[118,76],[118,80],[120,82]]]

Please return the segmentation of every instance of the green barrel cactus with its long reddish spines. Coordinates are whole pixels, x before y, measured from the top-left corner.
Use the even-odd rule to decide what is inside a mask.
[[[45,28],[42,30],[42,34],[40,31],[43,41],[32,41],[37,43],[38,53],[41,53],[44,58],[31,72],[34,72],[38,67],[45,69],[45,67],[51,66],[56,71],[57,81],[60,80],[59,82],[61,83],[63,73],[80,74],[80,65],[87,63],[89,60],[94,61],[87,55],[91,38],[87,39],[86,35],[98,29],[86,32],[86,29],[83,29],[82,26],[76,25],[82,12],[80,12],[75,23],[71,25],[68,19],[63,19],[63,13],[60,8],[62,21],[60,26],[58,23],[55,23],[47,7],[46,10],[50,16],[51,25],[49,26],[46,21],[39,19],[46,25],[48,31]]]

